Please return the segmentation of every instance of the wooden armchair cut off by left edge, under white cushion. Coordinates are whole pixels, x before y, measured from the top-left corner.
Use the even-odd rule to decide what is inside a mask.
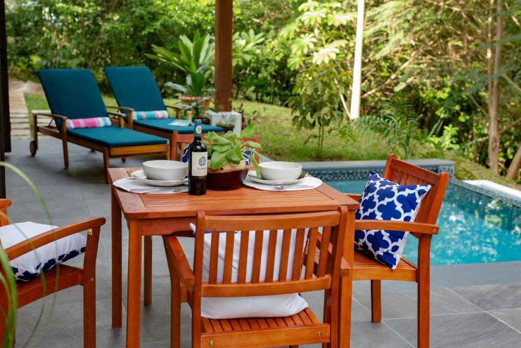
[[[8,199],[0,199],[0,212],[7,215]],[[7,219],[0,217],[0,226],[8,224]],[[83,346],[96,346],[96,254],[104,218],[91,218],[66,226],[58,227],[38,236],[27,239],[5,249],[8,259],[27,254],[35,248],[53,243],[57,239],[88,230],[83,269],[59,265],[45,272],[45,282],[36,277],[28,282],[17,282],[18,308],[28,305],[42,297],[75,285],[83,285]],[[0,245],[1,247],[1,245]],[[10,269],[5,272],[12,272]],[[0,285],[3,286],[3,285]],[[1,292],[0,292],[1,293]],[[0,295],[0,309],[6,310],[8,299]],[[5,313],[5,312],[4,312]],[[0,316],[0,342],[5,334],[5,318]],[[14,343],[14,342],[13,342]]]

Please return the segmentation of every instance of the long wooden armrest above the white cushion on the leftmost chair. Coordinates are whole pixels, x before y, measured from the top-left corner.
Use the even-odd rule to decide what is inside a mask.
[[[58,239],[67,237],[71,234],[75,234],[81,231],[97,229],[99,230],[102,225],[105,224],[105,218],[91,218],[79,222],[75,222],[66,226],[57,227],[56,229],[47,231],[38,236],[27,239],[26,241],[20,242],[13,246],[5,249],[5,253],[10,260],[16,259],[17,257],[29,253],[36,248],[43,245],[57,241]],[[89,238],[87,238],[89,239]],[[89,243],[89,242],[87,242]]]

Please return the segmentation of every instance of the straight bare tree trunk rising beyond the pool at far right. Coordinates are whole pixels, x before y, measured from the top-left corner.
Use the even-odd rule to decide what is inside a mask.
[[[495,40],[499,42],[503,38],[503,17],[501,12],[503,11],[503,0],[498,0],[496,13],[496,35]],[[494,79],[492,81],[492,95],[491,101],[489,102],[489,143],[488,143],[488,156],[489,166],[494,172],[498,172],[498,157],[499,157],[499,135],[498,135],[498,109],[499,109],[499,69],[501,65],[501,45],[498,44],[495,47],[494,54]]]

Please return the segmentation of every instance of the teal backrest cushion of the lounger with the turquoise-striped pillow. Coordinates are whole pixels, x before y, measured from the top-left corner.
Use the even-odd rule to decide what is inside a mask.
[[[135,111],[166,110],[152,71],[147,66],[106,66],[110,88],[119,106]]]

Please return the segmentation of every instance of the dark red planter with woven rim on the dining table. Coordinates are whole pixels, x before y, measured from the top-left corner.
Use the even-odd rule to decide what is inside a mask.
[[[226,163],[216,171],[210,169],[210,161],[208,161],[206,188],[217,191],[238,189],[242,186],[247,173],[246,161],[244,160],[240,164]]]

